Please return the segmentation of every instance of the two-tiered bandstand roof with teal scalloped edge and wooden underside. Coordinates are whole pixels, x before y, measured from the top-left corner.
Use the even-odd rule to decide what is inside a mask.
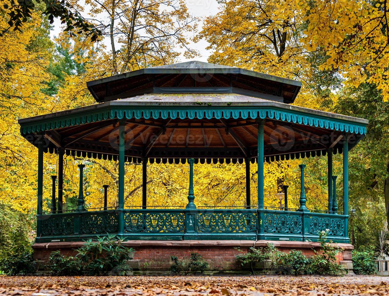
[[[191,76],[193,69],[198,70],[191,67],[199,66],[198,63],[187,63],[187,68],[175,64],[181,70],[172,72],[175,77],[170,76],[170,79],[174,81],[182,76],[182,69]],[[238,69],[202,64],[213,65],[212,69]],[[177,69],[174,65],[164,67],[148,69]],[[214,88],[201,92],[204,87],[200,86],[192,92],[197,87],[183,90],[176,86],[179,90],[170,87],[170,90],[157,92],[153,88],[148,93],[130,93],[128,83],[131,85],[131,78],[138,79],[139,75],[149,73],[148,69],[133,71],[141,73],[137,75],[130,72],[88,83],[98,101],[104,100],[101,99],[104,95],[97,91],[102,85],[106,87],[111,81],[122,81],[127,87],[122,86],[124,97],[120,99],[105,99],[106,102],[91,106],[20,119],[22,135],[35,145],[37,135],[44,133],[49,152],[63,147],[68,155],[116,159],[118,126],[122,122],[125,124],[127,161],[140,162],[147,157],[150,162],[178,163],[195,158],[200,163],[216,163],[242,162],[246,157],[255,161],[258,119],[265,120],[267,161],[318,156],[325,154],[328,148],[333,148],[334,153],[342,152],[342,135],[349,135],[349,147],[352,148],[366,134],[367,120],[286,104],[284,101],[293,101],[295,97],[295,94],[287,97],[286,92],[282,100],[269,97],[259,88],[255,93],[252,90],[235,93],[232,88],[231,92],[218,92]],[[199,73],[196,71],[194,77]],[[261,81],[267,79],[269,89],[280,84],[283,84],[282,90],[300,89],[298,81],[249,72]]]

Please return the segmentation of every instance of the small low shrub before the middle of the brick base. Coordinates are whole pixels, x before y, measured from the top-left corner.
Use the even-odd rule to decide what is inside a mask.
[[[193,252],[189,258],[184,260],[179,260],[177,256],[171,256],[170,260],[173,261],[173,264],[170,266],[170,271],[173,274],[203,273],[208,267],[208,263],[202,260],[201,255]]]

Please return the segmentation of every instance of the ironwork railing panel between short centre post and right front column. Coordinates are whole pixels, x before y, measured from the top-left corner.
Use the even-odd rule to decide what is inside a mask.
[[[257,216],[244,212],[197,213],[198,232],[256,232]]]

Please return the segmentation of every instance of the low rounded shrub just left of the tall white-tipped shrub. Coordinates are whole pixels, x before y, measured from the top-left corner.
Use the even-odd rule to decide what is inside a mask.
[[[279,256],[278,264],[284,274],[284,270],[287,270],[287,274],[293,275],[312,273],[310,270],[311,260],[301,251],[291,250],[289,253],[282,254]]]

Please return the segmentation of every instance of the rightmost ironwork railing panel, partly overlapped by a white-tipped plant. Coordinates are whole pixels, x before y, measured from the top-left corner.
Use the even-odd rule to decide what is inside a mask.
[[[316,217],[310,218],[310,234],[319,235],[319,232],[328,230],[328,235],[344,236],[344,218]]]

